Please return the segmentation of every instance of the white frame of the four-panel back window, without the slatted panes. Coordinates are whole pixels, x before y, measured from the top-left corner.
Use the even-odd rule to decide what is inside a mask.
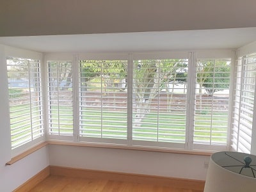
[[[193,143],[193,130],[191,129],[191,125],[193,125],[193,114],[194,109],[193,106],[195,103],[191,100],[191,98],[195,97],[195,65],[196,65],[196,58],[200,59],[227,59],[231,58],[231,66],[233,66],[234,63],[234,52],[229,50],[224,51],[195,51],[195,52],[189,52],[189,51],[173,51],[173,52],[131,52],[131,53],[89,53],[89,54],[46,54],[45,55],[45,62],[47,60],[64,60],[67,58],[72,58],[73,56],[73,66],[76,74],[73,74],[73,89],[74,89],[74,136],[68,138],[65,138],[63,136],[49,136],[47,134],[47,140],[64,140],[64,141],[74,141],[75,143],[88,143],[93,145],[123,145],[126,147],[148,147],[148,148],[169,148],[170,150],[190,150],[190,151],[218,151],[218,150],[229,150],[229,130],[230,127],[228,127],[228,139],[227,139],[227,145],[226,146],[218,146],[218,145],[198,145]],[[188,58],[189,65],[189,74],[188,78],[191,79],[188,86],[188,93],[187,96],[188,99],[188,113],[187,113],[187,120],[186,120],[186,143],[184,143],[183,147],[180,147],[179,145],[176,145],[175,143],[157,143],[156,145],[152,145],[152,142],[154,144],[154,141],[147,143],[144,141],[134,141],[132,140],[132,129],[130,128],[132,126],[131,116],[132,116],[132,93],[128,92],[128,100],[129,106],[128,106],[128,127],[127,129],[127,141],[125,142],[115,142],[113,140],[94,140],[94,139],[87,139],[79,137],[79,88],[78,88],[78,82],[79,77],[77,74],[79,74],[79,61],[80,60],[121,60],[121,59],[127,59],[128,60],[128,80],[127,80],[127,87],[128,89],[131,89],[132,86],[132,67],[129,67],[132,65],[133,61],[136,59],[161,59],[161,58]],[[46,65],[45,65],[46,66]],[[46,69],[45,69],[46,70]],[[192,79],[193,78],[193,79]],[[232,81],[232,80],[231,80]],[[190,114],[190,115],[189,115]],[[228,119],[230,121],[230,119]],[[228,122],[228,125],[230,125],[230,122]]]

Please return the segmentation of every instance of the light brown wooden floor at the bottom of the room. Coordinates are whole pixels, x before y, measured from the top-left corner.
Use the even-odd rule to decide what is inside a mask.
[[[139,184],[134,182],[120,182],[114,180],[100,180],[100,179],[81,179],[74,177],[65,177],[58,175],[50,175],[31,192],[47,191],[138,191],[138,192],[203,192],[192,189],[170,188],[166,186],[156,186],[150,184]]]

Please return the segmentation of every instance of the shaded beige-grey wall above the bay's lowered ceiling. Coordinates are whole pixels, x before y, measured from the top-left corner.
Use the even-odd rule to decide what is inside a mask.
[[[255,18],[255,0],[10,0],[0,36],[246,28]]]

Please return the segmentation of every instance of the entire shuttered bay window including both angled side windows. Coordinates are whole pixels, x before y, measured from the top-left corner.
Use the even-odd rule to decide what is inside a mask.
[[[235,62],[231,51],[209,52],[45,54],[44,76],[39,60],[8,57],[12,148],[46,132],[94,145],[250,152],[255,55]]]

